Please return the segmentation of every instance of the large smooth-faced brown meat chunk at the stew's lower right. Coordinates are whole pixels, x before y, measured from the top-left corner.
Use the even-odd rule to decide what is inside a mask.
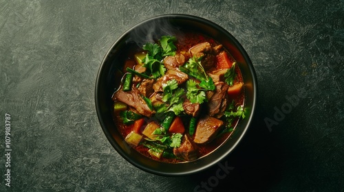
[[[199,144],[213,141],[223,124],[223,121],[214,117],[210,117],[208,115],[202,117],[197,123],[195,139],[193,139],[193,141]]]

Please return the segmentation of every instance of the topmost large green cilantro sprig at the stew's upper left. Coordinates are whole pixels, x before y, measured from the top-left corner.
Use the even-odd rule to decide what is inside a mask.
[[[146,56],[142,59],[143,67],[149,69],[154,79],[165,74],[166,68],[163,64],[165,56],[174,56],[177,47],[173,44],[177,39],[174,36],[162,36],[157,43],[146,43],[142,49],[147,51]]]

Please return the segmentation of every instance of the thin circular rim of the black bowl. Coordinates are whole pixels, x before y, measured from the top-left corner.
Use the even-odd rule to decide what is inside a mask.
[[[107,61],[107,58],[109,58],[109,55],[111,54],[111,50],[113,50],[114,47],[116,47],[116,45],[118,43],[120,43],[122,38],[125,38],[125,36],[127,36],[136,27],[139,27],[140,25],[144,25],[144,23],[148,23],[148,22],[151,22],[154,20],[159,20],[159,19],[183,19],[183,20],[195,21],[197,23],[202,23],[202,24],[211,26],[211,28],[214,28],[217,31],[219,31],[220,33],[225,34],[226,36],[230,37],[231,42],[235,45],[235,47],[237,47],[237,49],[239,50],[239,52],[243,56],[244,60],[246,60],[248,70],[250,71],[250,75],[252,75],[252,86],[253,86],[252,87],[252,89],[253,89],[252,107],[250,108],[250,117],[248,119],[248,123],[246,123],[243,132],[241,133],[241,135],[239,136],[237,141],[235,141],[235,143],[230,147],[230,149],[228,149],[227,152],[225,152],[224,154],[221,154],[220,156],[217,156],[217,158],[215,160],[213,160],[211,163],[208,163],[207,165],[204,165],[202,167],[198,167],[197,169],[193,169],[191,171],[180,171],[180,172],[175,172],[175,173],[174,172],[173,173],[167,173],[164,171],[150,169],[149,167],[145,167],[145,166],[141,165],[140,163],[137,163],[135,160],[133,160],[129,156],[129,154],[126,154],[125,152],[123,152],[123,149],[120,146],[118,146],[118,143],[116,143],[116,141],[114,141],[114,138],[111,136],[111,133],[109,132],[108,128],[106,128],[105,123],[104,123],[104,119],[103,119],[102,115],[100,114],[100,110],[101,110],[101,107],[100,107],[101,104],[100,104],[100,99],[99,99],[99,97],[100,97],[99,96],[100,78],[101,78],[102,73],[105,72],[105,71],[103,71],[104,67],[105,67],[105,62]],[[95,103],[96,103],[96,113],[98,116],[98,121],[100,123],[100,126],[101,126],[103,132],[105,133],[107,140],[116,149],[116,152],[118,152],[118,154],[120,154],[120,156],[125,158],[125,160],[127,160],[129,163],[131,163],[135,167],[138,167],[139,169],[142,169],[143,171],[147,171],[149,173],[153,173],[153,174],[160,175],[160,176],[187,176],[187,175],[191,175],[194,173],[198,173],[200,171],[204,171],[205,169],[208,169],[209,167],[213,167],[214,165],[219,163],[219,161],[223,160],[226,156],[228,156],[228,154],[230,154],[230,152],[232,152],[233,149],[235,149],[237,147],[237,145],[241,142],[242,138],[244,137],[248,128],[250,127],[250,124],[252,123],[253,117],[255,116],[255,110],[256,110],[256,106],[257,106],[257,88],[258,88],[258,86],[257,86],[257,75],[255,73],[255,69],[253,67],[253,64],[252,64],[252,62],[248,56],[248,53],[246,53],[244,47],[242,47],[242,45],[239,43],[239,41],[232,34],[230,34],[230,32],[228,32],[226,29],[224,29],[220,25],[217,25],[213,21],[209,21],[208,19],[204,19],[204,18],[199,17],[199,16],[193,16],[193,15],[189,15],[189,14],[161,14],[158,16],[152,16],[149,19],[144,19],[143,21],[136,23],[136,25],[133,25],[133,27],[130,27],[122,35],[120,35],[117,38],[117,40],[109,47],[107,53],[105,54],[105,56],[104,56],[104,58],[100,64],[100,67],[98,69],[98,73],[96,76],[96,86],[95,86],[95,92],[94,92],[94,99],[95,99]],[[197,161],[197,160],[195,160],[195,161]],[[187,163],[193,163],[193,161],[187,162]],[[164,163],[162,163],[162,164],[164,164]],[[185,163],[178,163],[178,164],[166,163],[166,164],[168,164],[168,165],[182,165]]]

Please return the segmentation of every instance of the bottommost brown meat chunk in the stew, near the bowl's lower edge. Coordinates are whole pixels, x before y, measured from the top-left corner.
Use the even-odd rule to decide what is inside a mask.
[[[184,134],[180,147],[173,148],[173,154],[184,160],[195,160],[197,158],[197,147],[195,143]]]

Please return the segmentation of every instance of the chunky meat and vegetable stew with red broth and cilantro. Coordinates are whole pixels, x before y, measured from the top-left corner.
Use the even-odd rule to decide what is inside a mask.
[[[197,32],[131,49],[115,71],[112,117],[125,142],[164,163],[197,160],[245,118],[245,84],[232,53]]]

